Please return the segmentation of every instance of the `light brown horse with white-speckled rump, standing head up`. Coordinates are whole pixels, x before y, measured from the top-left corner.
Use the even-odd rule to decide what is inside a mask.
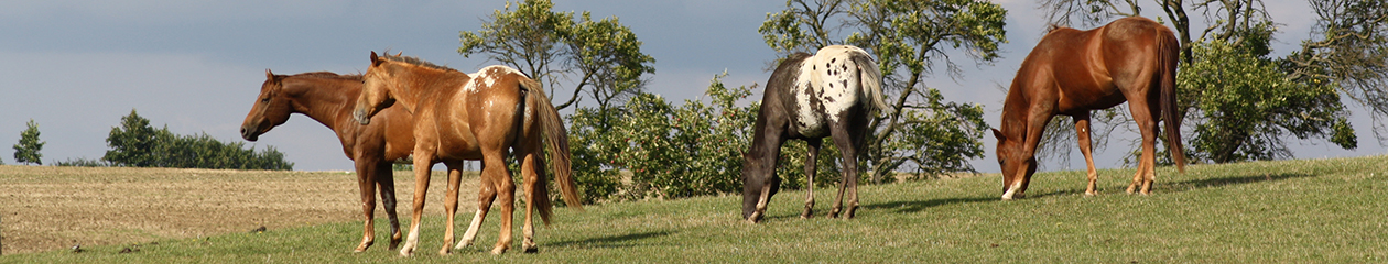
[[[418,185],[415,185],[411,218],[414,222],[409,225],[405,245],[400,249],[401,256],[412,254],[419,243],[419,217],[429,188],[428,168],[434,163],[441,161],[450,167],[448,195],[444,201],[448,225],[440,254],[448,254],[448,245],[452,243],[452,218],[458,207],[459,183],[452,171],[455,171],[454,164],[464,160],[482,160],[482,185],[477,213],[462,242],[454,249],[472,245],[477,228],[491,208],[491,201],[498,195],[501,236],[491,253],[501,254],[511,247],[515,183],[507,170],[508,151],[515,151],[525,179],[526,215],[522,246],[526,253],[537,250],[530,213],[539,211],[540,218],[548,224],[552,210],[544,172],[545,158],[541,157],[545,147],[550,149],[548,160],[554,164],[555,182],[564,193],[565,203],[582,210],[570,176],[568,132],[539,82],[500,65],[483,68],[469,78],[464,72],[418,58],[378,57],[375,51],[371,53],[371,67],[366,68],[364,79],[364,89],[354,111],[358,121],[371,122],[369,117],[391,103],[404,104],[416,118],[414,154]]]

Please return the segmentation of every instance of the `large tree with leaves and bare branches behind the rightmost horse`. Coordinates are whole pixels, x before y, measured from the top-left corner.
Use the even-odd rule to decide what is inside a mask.
[[[1124,0],[1042,0],[1052,24],[1078,21],[1097,25],[1115,15],[1140,15],[1135,3]],[[1298,139],[1323,138],[1355,149],[1357,139],[1348,124],[1349,111],[1339,96],[1349,96],[1370,108],[1374,132],[1381,136],[1388,117],[1388,7],[1382,0],[1312,0],[1320,15],[1312,39],[1302,50],[1271,58],[1270,42],[1276,22],[1260,0],[1160,0],[1177,31],[1183,56],[1177,89],[1178,115],[1194,126],[1194,149],[1187,156],[1212,163],[1292,157],[1287,135]],[[1091,8],[1073,8],[1091,7]],[[1210,21],[1192,31],[1187,8]],[[1131,13],[1127,13],[1131,11]],[[1192,38],[1194,36],[1194,38]],[[1219,78],[1213,78],[1219,76]],[[1108,110],[1116,111],[1116,110]],[[1128,122],[1124,115],[1115,124]],[[1190,117],[1190,118],[1187,118]],[[1095,121],[1102,122],[1102,121]],[[1124,126],[1127,124],[1123,124]],[[1048,142],[1073,140],[1066,126],[1048,128]],[[1102,136],[1103,129],[1099,129]],[[1055,136],[1051,136],[1055,135]]]

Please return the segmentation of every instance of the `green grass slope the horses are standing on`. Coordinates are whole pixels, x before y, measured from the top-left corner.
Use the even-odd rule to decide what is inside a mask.
[[[539,231],[539,254],[515,250],[519,225],[512,251],[487,254],[493,214],[477,245],[452,256],[434,254],[443,246],[434,217],[411,258],[384,242],[350,253],[359,222],[341,222],[0,263],[1384,263],[1385,165],[1377,156],[1160,168],[1152,196],[1123,193],[1131,170],[1101,171],[1095,197],[1081,195],[1083,171],[1037,174],[1029,197],[1013,201],[998,200],[998,176],[865,186],[852,221],[823,218],[833,199],[823,188],[818,218],[798,218],[804,193],[783,192],[758,225],[738,220],[737,196],[561,208]],[[461,236],[472,214],[458,215]],[[125,247],[139,251],[117,253]]]

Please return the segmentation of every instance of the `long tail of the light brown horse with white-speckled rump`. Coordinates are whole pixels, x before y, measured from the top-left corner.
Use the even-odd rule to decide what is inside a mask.
[[[530,78],[520,79],[520,89],[527,90],[526,106],[534,113],[539,122],[539,129],[544,133],[544,142],[547,149],[550,149],[548,160],[550,168],[554,171],[554,181],[559,185],[559,193],[564,195],[564,203],[569,207],[583,210],[583,203],[579,201],[579,190],[573,183],[573,168],[569,165],[569,132],[564,128],[564,121],[559,119],[559,111],[554,108],[550,103],[550,96],[544,94],[544,89],[540,88],[540,82]],[[532,122],[532,121],[526,121]],[[544,168],[537,168],[544,170]],[[544,174],[537,174],[544,175]],[[536,179],[536,207],[540,210],[540,218],[545,224],[550,222],[550,214],[552,214],[552,204],[550,203],[550,183],[547,179]]]

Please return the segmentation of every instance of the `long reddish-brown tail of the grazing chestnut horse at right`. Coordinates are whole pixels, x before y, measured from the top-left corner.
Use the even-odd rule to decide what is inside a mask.
[[[1162,28],[1166,29],[1166,28]],[[1176,161],[1176,170],[1185,172],[1185,150],[1181,147],[1181,121],[1177,119],[1176,108],[1176,64],[1180,56],[1181,44],[1176,40],[1176,35],[1171,31],[1158,31],[1156,49],[1158,58],[1160,64],[1159,71],[1162,71],[1162,119],[1166,122],[1166,145],[1167,151],[1171,153],[1171,160]]]

